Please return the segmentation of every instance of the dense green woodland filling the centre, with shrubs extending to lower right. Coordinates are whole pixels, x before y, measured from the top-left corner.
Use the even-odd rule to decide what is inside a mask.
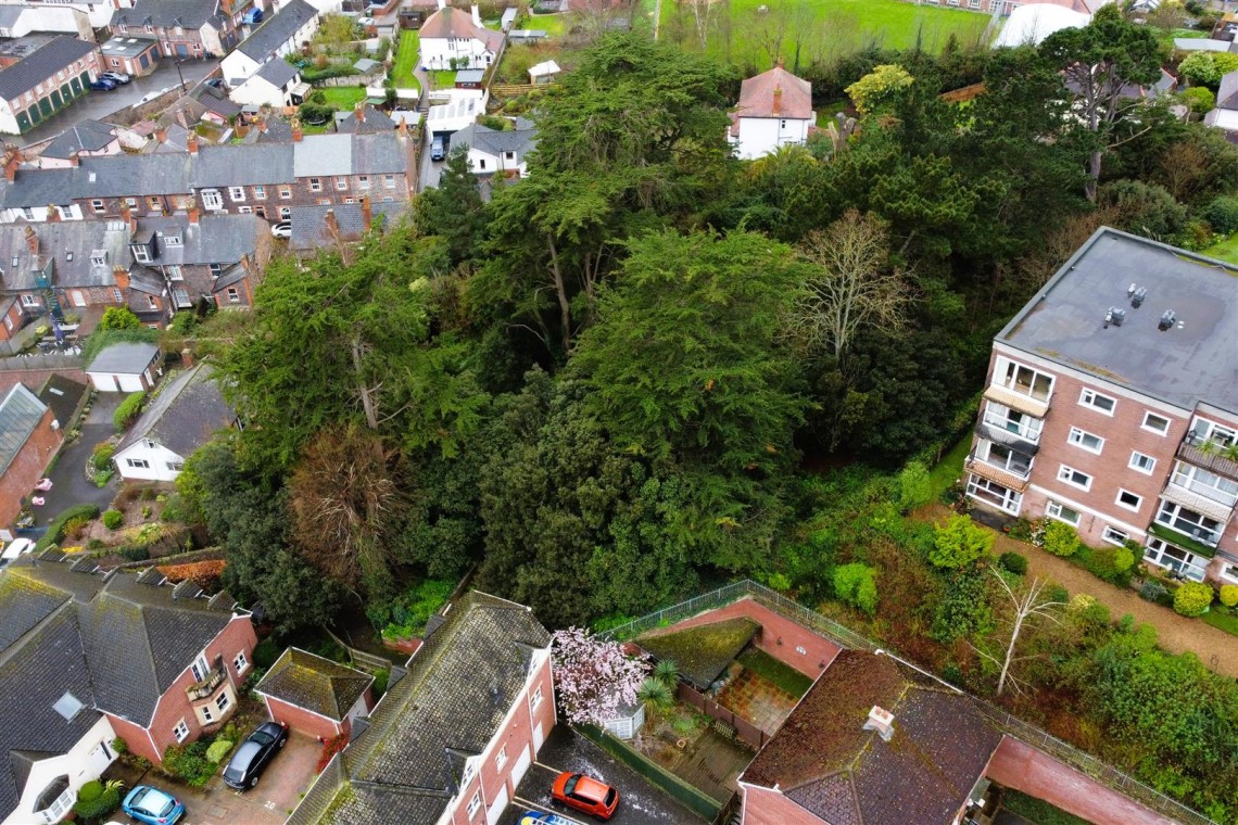
[[[751,576],[993,695],[1024,585],[942,555],[894,474],[969,428],[993,334],[1097,226],[1234,229],[1238,148],[1118,96],[1165,54],[1112,10],[811,67],[858,122],[751,163],[733,69],[603,37],[541,98],[527,178],[483,203],[454,151],[410,221],[269,267],[219,361],[249,425],[178,482],[227,586],[281,632],[383,627],[473,569],[563,627]],[[1102,613],[1030,623],[1002,701],[1233,821],[1234,684]]]

